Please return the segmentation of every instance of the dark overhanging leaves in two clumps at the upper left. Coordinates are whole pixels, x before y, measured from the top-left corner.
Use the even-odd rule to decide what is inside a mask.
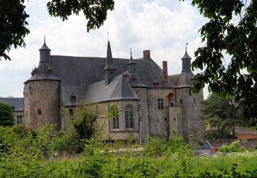
[[[0,60],[11,60],[7,53],[11,47],[25,47],[24,38],[29,34],[25,12],[25,0],[0,0]],[[114,10],[113,0],[52,0],[47,3],[47,9],[51,16],[60,16],[62,21],[68,19],[71,14],[79,15],[83,12],[88,20],[86,28],[99,28],[106,20],[107,11]],[[6,53],[7,51],[7,53]]]

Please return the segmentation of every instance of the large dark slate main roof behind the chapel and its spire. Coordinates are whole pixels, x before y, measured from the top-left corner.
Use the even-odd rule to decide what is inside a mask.
[[[50,57],[53,71],[55,71],[58,79],[61,80],[62,96],[65,105],[75,105],[71,102],[71,94],[75,94],[77,102],[84,99],[86,88],[104,79],[104,67],[106,66],[106,58],[93,57],[72,57],[51,55]],[[120,75],[127,71],[128,59],[113,58],[115,73]],[[171,81],[164,84],[162,80],[162,69],[153,60],[143,60],[143,58],[134,60],[136,62],[136,73],[140,77],[145,86],[153,88],[154,81],[159,82],[162,87],[175,87]],[[99,88],[95,88],[99,90]]]

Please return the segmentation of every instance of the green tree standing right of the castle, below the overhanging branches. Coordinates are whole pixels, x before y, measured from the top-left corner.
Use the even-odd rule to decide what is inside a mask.
[[[210,127],[207,139],[235,138],[237,127],[249,127],[243,117],[243,103],[231,96],[224,99],[220,94],[209,94],[201,103],[201,117]]]

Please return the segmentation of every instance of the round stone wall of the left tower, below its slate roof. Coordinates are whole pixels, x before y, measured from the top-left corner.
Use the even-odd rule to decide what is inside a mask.
[[[57,81],[31,81],[25,84],[25,125],[42,127],[50,123],[60,129],[59,88],[60,83]]]

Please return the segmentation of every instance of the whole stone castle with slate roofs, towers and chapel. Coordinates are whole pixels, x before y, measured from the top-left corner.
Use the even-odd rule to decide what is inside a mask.
[[[112,58],[108,40],[106,58],[51,55],[44,42],[40,62],[32,77],[24,82],[24,123],[40,127],[45,123],[63,129],[64,108],[72,115],[81,101],[98,103],[108,112],[117,105],[119,114],[107,120],[103,140],[134,140],[144,144],[147,136],[169,137],[173,133],[188,142],[203,138],[204,122],[199,118],[203,92],[190,96],[192,86],[191,58],[185,51],[182,72],[168,75],[167,61],[162,68],[151,59],[150,51],[143,58]],[[104,115],[97,118],[103,122]],[[106,137],[106,138],[104,138]]]

